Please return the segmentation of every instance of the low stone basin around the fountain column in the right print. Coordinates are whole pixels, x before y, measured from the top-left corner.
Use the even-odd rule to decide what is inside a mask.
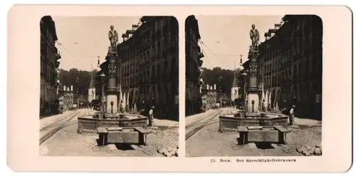
[[[288,116],[276,113],[259,113],[258,117],[246,117],[244,111],[219,116],[220,132],[237,132],[239,126],[282,126],[288,128]]]

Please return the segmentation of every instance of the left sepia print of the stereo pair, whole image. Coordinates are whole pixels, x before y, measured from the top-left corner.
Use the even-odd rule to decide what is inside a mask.
[[[178,156],[178,22],[41,18],[40,153]]]

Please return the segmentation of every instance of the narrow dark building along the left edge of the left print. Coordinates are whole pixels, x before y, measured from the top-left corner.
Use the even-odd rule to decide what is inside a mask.
[[[43,16],[40,22],[41,29],[41,114],[52,114],[51,104],[57,99],[57,69],[61,55],[55,46],[58,40],[56,26],[51,16]]]

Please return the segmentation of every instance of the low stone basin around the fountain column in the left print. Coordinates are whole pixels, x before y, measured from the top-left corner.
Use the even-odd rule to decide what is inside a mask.
[[[115,116],[114,116],[115,115]],[[77,133],[97,133],[98,127],[142,127],[147,128],[147,117],[137,114],[113,114],[105,119],[102,114],[78,117]],[[110,119],[108,119],[110,118]]]

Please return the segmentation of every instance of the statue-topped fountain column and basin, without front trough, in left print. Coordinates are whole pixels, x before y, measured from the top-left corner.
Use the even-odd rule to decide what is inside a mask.
[[[110,47],[108,55],[105,57],[108,62],[108,70],[105,74],[108,75],[105,91],[106,111],[97,112],[90,116],[78,118],[78,133],[96,133],[98,127],[142,127],[147,128],[147,117],[139,114],[120,113],[117,109],[117,95],[120,91],[116,87],[116,72],[118,54],[115,48],[117,47],[117,32],[114,26],[110,26],[109,40]],[[104,109],[104,108],[103,108]]]

